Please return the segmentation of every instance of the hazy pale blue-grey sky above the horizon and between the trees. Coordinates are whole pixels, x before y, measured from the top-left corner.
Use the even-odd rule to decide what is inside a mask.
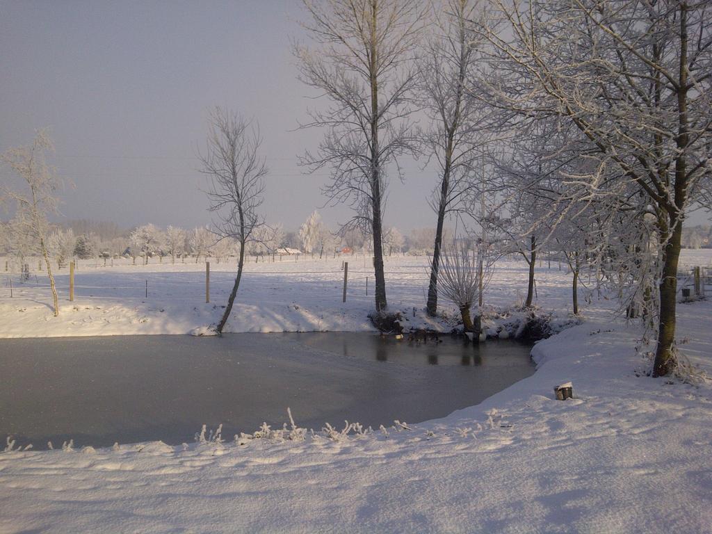
[[[61,195],[67,218],[209,222],[194,156],[214,105],[261,124],[268,221],[295,229],[323,204],[327,176],[296,165],[320,133],[290,131],[313,105],[291,55],[298,1],[27,0],[0,1],[0,12],[0,150],[50,127],[53,162],[75,184]],[[408,183],[392,184],[386,222],[434,226],[432,178],[407,169]],[[335,224],[348,211],[322,214]]]

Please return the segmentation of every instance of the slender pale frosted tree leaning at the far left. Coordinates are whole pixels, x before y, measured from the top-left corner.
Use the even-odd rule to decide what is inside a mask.
[[[53,150],[53,145],[45,130],[40,130],[31,145],[11,148],[2,156],[2,162],[22,179],[28,191],[19,192],[3,185],[4,196],[16,203],[14,231],[26,236],[36,244],[47,266],[47,276],[52,290],[55,317],[59,315],[59,299],[52,275],[52,266],[47,251],[47,215],[56,211],[55,191],[58,182],[53,169],[48,166],[45,152]]]

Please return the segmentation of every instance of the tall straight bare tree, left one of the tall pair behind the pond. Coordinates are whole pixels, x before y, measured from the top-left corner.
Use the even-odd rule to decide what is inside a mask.
[[[352,206],[353,226],[373,239],[376,310],[385,310],[382,219],[387,167],[414,153],[417,140],[407,120],[416,74],[410,64],[424,21],[418,0],[303,0],[304,27],[316,46],[295,47],[300,80],[330,105],[310,112],[307,127],[327,130],[318,152],[303,164],[330,167],[325,194]],[[402,178],[400,169],[397,174]]]

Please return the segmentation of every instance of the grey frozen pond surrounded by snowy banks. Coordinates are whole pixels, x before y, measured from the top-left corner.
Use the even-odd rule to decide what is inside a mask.
[[[534,372],[527,345],[427,343],[371,333],[0,340],[0,439],[45,449],[193,441],[344,419],[378,428],[481,402]]]

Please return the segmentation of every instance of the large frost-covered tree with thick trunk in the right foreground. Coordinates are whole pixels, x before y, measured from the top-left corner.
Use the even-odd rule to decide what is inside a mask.
[[[682,225],[708,192],[712,167],[709,2],[491,4],[507,28],[481,27],[493,61],[501,62],[483,98],[513,115],[556,117],[577,128],[597,167],[575,177],[575,187],[616,199],[617,210],[645,199],[654,216],[661,253],[652,374],[667,375],[676,362]]]

